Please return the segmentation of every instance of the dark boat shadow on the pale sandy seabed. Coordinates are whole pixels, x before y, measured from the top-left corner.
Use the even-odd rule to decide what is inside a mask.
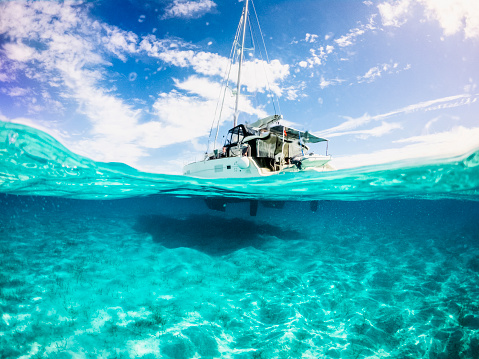
[[[208,214],[172,218],[162,215],[138,217],[135,229],[149,233],[166,248],[189,247],[210,255],[224,255],[245,247],[259,248],[267,237],[298,239],[301,233],[240,218]]]

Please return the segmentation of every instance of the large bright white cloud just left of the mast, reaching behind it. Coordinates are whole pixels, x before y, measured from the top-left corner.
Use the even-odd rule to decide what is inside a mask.
[[[215,116],[220,85],[206,78],[191,76],[175,81],[177,89],[159,94],[153,104],[155,119],[141,122],[139,111],[107,94],[88,95],[92,88],[86,85],[77,95],[84,96],[84,113],[94,122],[93,137],[72,143],[70,148],[95,160],[136,164],[148,149],[176,143],[192,142],[208,135]],[[80,88],[81,86],[79,86]],[[220,124],[232,119],[234,99],[226,96]],[[262,109],[255,108],[242,97],[243,112],[266,117]]]

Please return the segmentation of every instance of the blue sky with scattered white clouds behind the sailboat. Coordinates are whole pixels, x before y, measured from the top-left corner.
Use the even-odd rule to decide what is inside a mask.
[[[207,148],[243,5],[0,0],[0,120],[96,161],[180,174]],[[240,122],[276,111],[328,138],[337,168],[479,147],[479,0],[253,5],[269,62],[247,43]]]

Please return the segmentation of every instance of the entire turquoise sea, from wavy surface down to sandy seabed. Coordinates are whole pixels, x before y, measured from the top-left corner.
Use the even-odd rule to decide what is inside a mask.
[[[138,357],[479,358],[479,151],[200,180],[0,122],[0,358]]]

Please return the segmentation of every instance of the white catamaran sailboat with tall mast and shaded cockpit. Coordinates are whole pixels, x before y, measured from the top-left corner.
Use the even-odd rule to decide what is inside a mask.
[[[330,164],[331,156],[327,154],[328,140],[315,136],[308,131],[300,131],[282,124],[282,116],[280,114],[259,119],[251,124],[239,123],[238,117],[241,112],[239,108],[241,77],[245,60],[247,24],[250,23],[248,17],[250,2],[254,9],[252,0],[246,0],[238,30],[236,31],[231,52],[232,56],[230,56],[230,66],[235,62],[234,56],[237,56],[236,63],[238,65],[238,77],[234,93],[236,99],[233,127],[228,131],[223,146],[219,149],[215,148],[220,124],[218,119],[213,151],[210,152],[207,149],[201,161],[192,162],[184,166],[183,174],[191,177],[215,179],[334,170],[334,167]],[[261,33],[261,28],[259,27],[259,29]],[[267,55],[266,50],[265,53]],[[229,79],[226,78],[223,81],[226,84],[226,88]],[[224,103],[224,98],[222,103]],[[326,154],[320,155],[311,152],[309,146],[321,142],[326,143]]]

